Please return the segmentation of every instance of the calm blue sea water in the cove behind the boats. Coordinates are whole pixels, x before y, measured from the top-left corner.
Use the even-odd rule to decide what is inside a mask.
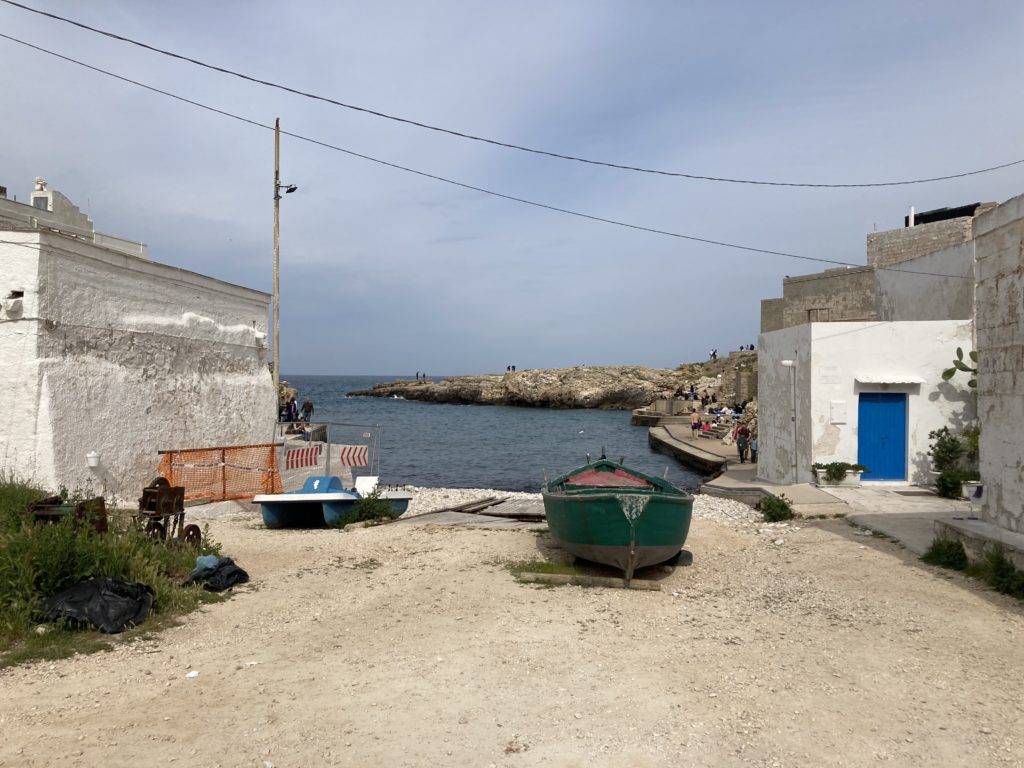
[[[346,397],[352,390],[406,377],[285,376],[312,400],[313,421],[380,426],[382,482],[426,487],[496,488],[537,493],[605,446],[609,459],[693,487],[700,476],[647,444],[647,428],[630,425],[628,411],[446,406],[382,397]],[[361,427],[332,427],[332,442],[366,442]]]

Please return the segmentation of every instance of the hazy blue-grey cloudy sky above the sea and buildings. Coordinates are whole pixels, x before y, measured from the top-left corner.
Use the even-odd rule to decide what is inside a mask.
[[[26,2],[351,106],[603,163],[850,184],[1024,159],[1017,0]],[[155,261],[271,291],[275,118],[391,164],[282,136],[281,180],[299,187],[280,212],[286,375],[706,359],[756,343],[784,276],[865,263],[867,233],[910,206],[1024,194],[1024,164],[858,188],[641,173],[346,109],[6,2],[0,34],[264,126],[0,38],[0,185],[27,201],[43,176]]]

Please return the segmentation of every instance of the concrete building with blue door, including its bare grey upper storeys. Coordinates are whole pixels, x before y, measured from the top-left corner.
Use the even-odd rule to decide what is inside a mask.
[[[974,348],[976,213],[991,208],[872,233],[867,265],[786,279],[762,304],[759,477],[810,482],[812,464],[843,461],[865,481],[931,480],[929,432],[975,418],[942,371]]]

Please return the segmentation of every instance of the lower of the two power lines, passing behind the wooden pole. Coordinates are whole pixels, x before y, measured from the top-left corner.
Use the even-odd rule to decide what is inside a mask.
[[[3,0],[3,1],[6,2],[6,0]],[[204,103],[202,103],[200,101],[196,101],[196,100],[190,99],[190,98],[185,98],[184,96],[179,96],[176,93],[171,93],[170,91],[165,91],[165,90],[162,90],[160,88],[156,88],[156,87],[154,87],[152,85],[146,85],[145,83],[141,83],[141,82],[139,82],[137,80],[132,80],[131,78],[126,78],[126,77],[124,77],[122,75],[117,75],[117,74],[115,74],[113,72],[108,72],[106,70],[101,70],[98,67],[93,67],[92,65],[85,63],[84,61],[79,61],[76,58],[72,58],[72,57],[66,56],[66,55],[63,55],[61,53],[56,53],[54,51],[47,50],[46,48],[42,48],[42,47],[40,47],[38,45],[34,45],[32,43],[27,43],[24,40],[18,40],[17,38],[13,38],[10,35],[4,35],[3,33],[0,33],[0,38],[3,38],[5,40],[10,40],[11,42],[18,43],[20,45],[25,45],[25,46],[27,46],[29,48],[32,48],[34,50],[38,50],[38,51],[40,51],[42,53],[46,53],[46,54],[51,55],[51,56],[55,56],[56,58],[60,58],[60,59],[62,59],[65,61],[70,61],[71,63],[78,65],[79,67],[84,67],[87,70],[92,70],[93,72],[98,72],[101,75],[106,75],[108,77],[115,78],[116,80],[121,80],[122,82],[130,83],[131,85],[136,85],[139,88],[144,88],[144,89],[146,89],[148,91],[153,91],[154,93],[159,93],[159,94],[161,94],[163,96],[168,96],[168,97],[176,99],[178,101],[182,101],[184,103],[191,104],[193,106],[198,106],[201,110],[206,110],[208,112],[212,112],[212,113],[215,113],[217,115],[222,115],[223,117],[231,118],[232,120],[238,120],[240,122],[247,123],[247,124],[252,125],[252,126],[256,126],[257,128],[263,128],[263,129],[269,130],[269,131],[274,130],[274,127],[271,126],[271,125],[267,125],[265,123],[260,123],[260,122],[258,122],[256,120],[252,120],[250,118],[244,118],[244,117],[242,117],[240,115],[234,115],[233,113],[226,112],[225,110],[219,110],[219,109],[217,109],[215,106],[209,106],[208,104],[204,104]],[[504,193],[495,191],[493,189],[486,189],[486,188],[484,188],[482,186],[474,186],[473,184],[467,184],[467,183],[462,182],[462,181],[456,181],[454,179],[445,178],[444,176],[438,176],[438,175],[433,174],[433,173],[427,173],[426,171],[419,171],[419,170],[417,170],[415,168],[409,168],[407,166],[398,165],[396,163],[390,163],[390,162],[388,162],[386,160],[380,160],[379,158],[374,158],[374,157],[371,157],[369,155],[362,155],[361,153],[353,152],[352,150],[346,150],[343,146],[337,146],[336,144],[331,144],[331,143],[328,143],[327,141],[321,141],[318,139],[309,138],[308,136],[303,136],[303,135],[300,135],[298,133],[291,133],[290,131],[282,131],[282,133],[284,133],[286,136],[291,136],[292,138],[299,139],[300,141],[306,141],[308,143],[315,144],[317,146],[323,146],[325,148],[332,150],[334,152],[340,152],[340,153],[343,153],[345,155],[349,155],[349,156],[351,156],[353,158],[359,158],[360,160],[366,160],[366,161],[369,161],[371,163],[376,163],[378,165],[383,165],[383,166],[386,166],[388,168],[394,168],[394,169],[399,170],[399,171],[404,171],[406,173],[413,173],[413,174],[415,174],[417,176],[422,176],[424,178],[433,179],[435,181],[442,181],[445,184],[452,184],[454,186],[459,186],[459,187],[462,187],[463,189],[471,189],[473,191],[481,193],[483,195],[489,195],[489,196],[493,196],[493,197],[496,197],[496,198],[501,198],[503,200],[510,200],[510,201],[512,201],[514,203],[521,203],[523,205],[532,206],[535,208],[542,208],[542,209],[545,209],[545,210],[548,210],[548,211],[554,211],[556,213],[563,213],[563,214],[566,214],[568,216],[575,216],[578,218],[588,219],[590,221],[599,221],[599,222],[604,223],[604,224],[611,224],[613,226],[622,226],[622,227],[625,227],[625,228],[628,228],[628,229],[636,229],[638,231],[650,232],[652,234],[662,234],[662,236],[665,236],[665,237],[668,237],[668,238],[676,238],[678,240],[690,241],[692,243],[702,243],[705,245],[720,246],[722,248],[732,248],[732,249],[735,249],[735,250],[746,251],[746,252],[750,252],[750,253],[761,253],[761,254],[765,254],[765,255],[769,255],[769,256],[783,256],[785,258],[791,258],[791,259],[802,259],[804,261],[815,261],[815,262],[820,262],[820,263],[824,263],[824,264],[837,264],[839,266],[853,266],[853,267],[864,266],[863,264],[855,264],[855,263],[850,262],[850,261],[840,261],[840,260],[837,260],[837,259],[825,259],[825,258],[821,258],[821,257],[818,257],[818,256],[801,256],[801,255],[795,254],[795,253],[786,253],[785,251],[772,251],[772,250],[765,249],[765,248],[754,248],[752,246],[741,246],[741,245],[737,245],[735,243],[726,243],[724,241],[711,240],[711,239],[708,239],[708,238],[697,238],[697,237],[692,236],[692,234],[682,234],[680,232],[673,232],[673,231],[670,231],[668,229],[658,229],[658,228],[655,228],[655,227],[643,226],[641,224],[632,224],[632,223],[630,223],[628,221],[618,221],[617,219],[609,219],[609,218],[605,218],[603,216],[595,216],[595,215],[592,215],[592,214],[589,214],[589,213],[581,213],[580,211],[572,211],[572,210],[570,210],[568,208],[560,208],[558,206],[548,205],[547,203],[538,203],[536,201],[527,200],[525,198],[517,198],[517,197],[515,197],[513,195],[506,195]],[[929,275],[929,276],[933,276],[933,278],[964,279],[964,275],[959,275],[959,274],[944,274],[944,273],[941,273],[941,272],[925,272],[925,271],[916,271],[916,270],[911,270],[911,269],[896,269],[894,267],[877,267],[877,268],[879,268],[879,269],[887,269],[887,270],[891,270],[891,271],[906,272],[908,274],[923,274],[923,275]]]

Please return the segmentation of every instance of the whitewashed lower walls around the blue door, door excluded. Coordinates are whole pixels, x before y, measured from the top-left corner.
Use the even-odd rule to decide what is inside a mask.
[[[763,334],[758,347],[758,476],[791,482],[793,390],[782,359],[796,359],[797,481],[815,462],[857,461],[861,392],[907,394],[907,475],[928,482],[928,433],[959,429],[973,416],[967,379],[942,381],[955,348],[973,348],[971,321],[813,323]],[[922,384],[862,384],[857,379],[920,378]],[[840,416],[845,411],[845,416]],[[837,423],[841,422],[841,423]],[[870,475],[864,476],[870,481]]]

